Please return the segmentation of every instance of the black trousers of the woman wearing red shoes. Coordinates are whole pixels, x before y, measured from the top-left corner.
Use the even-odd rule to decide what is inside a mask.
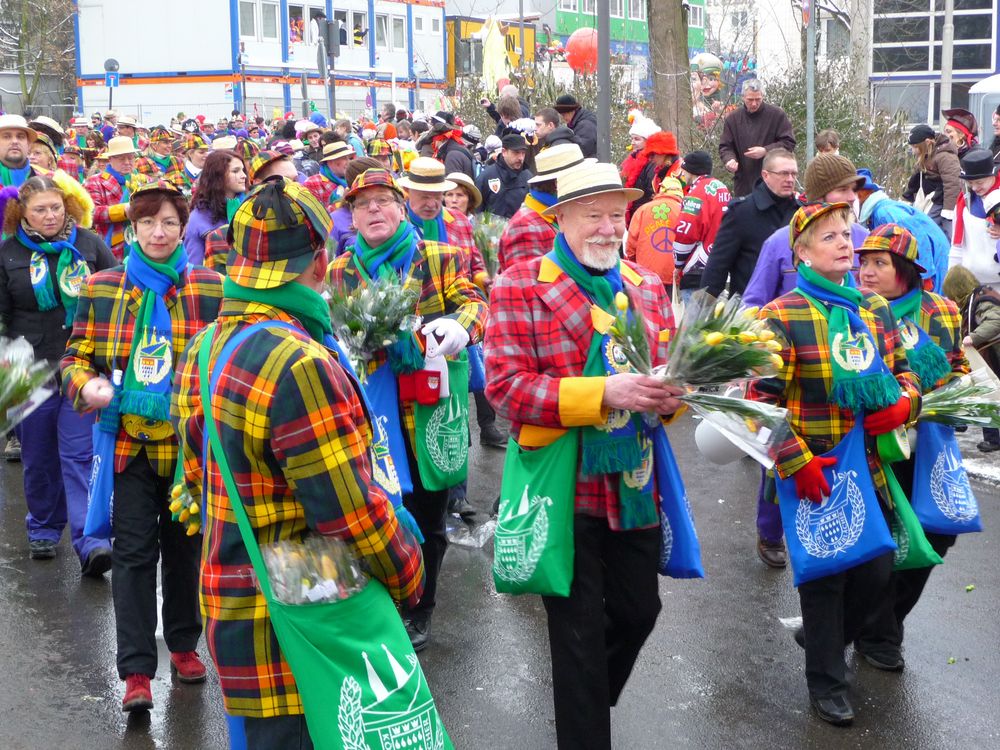
[[[162,553],[163,639],[171,652],[194,651],[201,636],[198,564],[201,536],[171,520],[171,479],[145,450],[115,474],[111,590],[118,675],[156,674],[156,563]]]

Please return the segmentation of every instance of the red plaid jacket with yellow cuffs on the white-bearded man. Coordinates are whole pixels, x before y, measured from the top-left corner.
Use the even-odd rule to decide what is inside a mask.
[[[663,364],[674,328],[666,290],[655,274],[626,261],[622,278],[645,318],[653,364]],[[486,331],[486,397],[511,421],[522,446],[545,445],[565,428],[607,420],[604,378],[583,377],[594,331],[591,307],[576,282],[544,257],[497,277]],[[618,529],[619,510],[617,474],[577,475],[577,513],[607,518]]]

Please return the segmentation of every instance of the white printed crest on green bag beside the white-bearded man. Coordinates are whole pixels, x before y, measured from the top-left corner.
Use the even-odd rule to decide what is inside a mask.
[[[535,574],[549,536],[551,497],[532,495],[525,486],[520,502],[511,503],[497,519],[493,537],[493,572],[511,583],[524,583]]]

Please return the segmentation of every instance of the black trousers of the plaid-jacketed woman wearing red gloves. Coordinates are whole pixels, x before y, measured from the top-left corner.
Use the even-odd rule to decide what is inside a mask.
[[[806,640],[809,695],[829,698],[847,691],[844,647],[862,631],[872,610],[888,598],[893,553],[799,586]]]

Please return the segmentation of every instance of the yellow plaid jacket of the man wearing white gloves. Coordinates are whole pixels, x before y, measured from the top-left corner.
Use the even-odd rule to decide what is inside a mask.
[[[486,298],[479,288],[472,283],[462,266],[461,251],[451,245],[439,242],[421,241],[413,255],[410,273],[406,277],[406,286],[420,290],[420,301],[417,303],[417,314],[423,317],[424,323],[447,316],[454,318],[469,332],[469,343],[476,343],[483,338],[486,329],[486,319],[489,308]],[[354,265],[354,253],[346,252],[338,255],[330,263],[327,281],[334,289],[350,292],[356,289],[363,279]],[[423,346],[422,337],[417,339]],[[374,365],[380,365],[385,358],[385,352],[378,353]],[[410,445],[415,440],[415,423],[413,421],[413,404],[403,404],[403,422],[410,435]]]

